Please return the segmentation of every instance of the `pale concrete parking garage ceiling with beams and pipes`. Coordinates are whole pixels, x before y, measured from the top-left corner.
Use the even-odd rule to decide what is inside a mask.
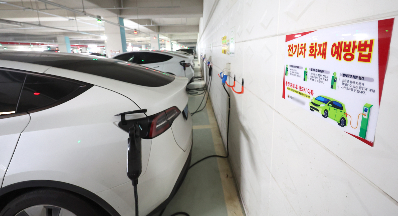
[[[0,41],[57,43],[65,35],[71,43],[101,45],[104,23],[92,16],[124,18],[127,43],[148,44],[158,33],[194,46],[203,0],[0,0]]]

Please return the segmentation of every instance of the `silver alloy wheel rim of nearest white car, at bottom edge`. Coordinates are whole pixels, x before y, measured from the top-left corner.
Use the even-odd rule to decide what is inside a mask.
[[[76,214],[58,206],[38,205],[25,208],[15,216],[76,216]]]

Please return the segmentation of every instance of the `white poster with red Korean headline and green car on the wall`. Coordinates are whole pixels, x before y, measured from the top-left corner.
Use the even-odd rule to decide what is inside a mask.
[[[393,24],[286,35],[282,97],[373,146]]]

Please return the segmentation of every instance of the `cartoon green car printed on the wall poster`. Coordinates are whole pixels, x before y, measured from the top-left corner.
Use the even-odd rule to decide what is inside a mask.
[[[345,111],[345,106],[343,103],[339,102],[330,97],[320,95],[316,98],[312,98],[310,102],[310,110],[314,112],[316,110],[324,118],[331,118],[337,122],[341,127],[347,125],[347,116]]]

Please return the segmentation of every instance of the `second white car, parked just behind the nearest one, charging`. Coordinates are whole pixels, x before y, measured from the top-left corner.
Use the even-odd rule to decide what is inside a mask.
[[[179,77],[187,77],[189,82],[194,77],[194,60],[192,55],[173,51],[133,51],[113,57],[122,61],[136,63]]]

